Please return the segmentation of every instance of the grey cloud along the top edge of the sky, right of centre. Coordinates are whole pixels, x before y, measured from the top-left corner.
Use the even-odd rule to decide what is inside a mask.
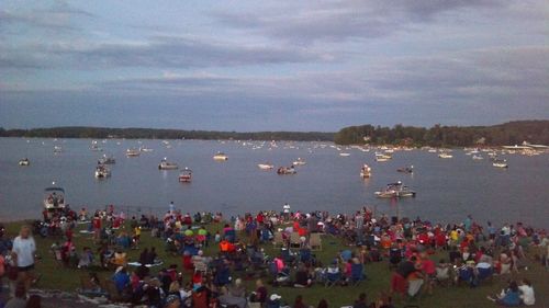
[[[414,23],[432,21],[442,13],[464,9],[500,8],[495,0],[435,1],[333,1],[315,5],[268,8],[253,12],[214,12],[224,25],[307,44],[315,41],[382,37]]]

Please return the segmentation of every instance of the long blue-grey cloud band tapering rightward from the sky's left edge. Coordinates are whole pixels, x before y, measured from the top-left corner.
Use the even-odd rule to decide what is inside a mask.
[[[325,56],[299,47],[205,42],[179,36],[156,36],[143,42],[61,42],[18,49],[0,47],[4,68],[195,68],[309,62]],[[21,53],[21,50],[23,50]],[[323,58],[324,57],[324,58]]]

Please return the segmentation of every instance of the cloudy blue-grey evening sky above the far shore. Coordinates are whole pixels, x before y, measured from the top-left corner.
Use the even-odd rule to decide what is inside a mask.
[[[0,2],[0,126],[549,118],[546,0]]]

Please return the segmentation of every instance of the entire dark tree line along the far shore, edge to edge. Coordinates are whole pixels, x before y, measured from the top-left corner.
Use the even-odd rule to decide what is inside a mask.
[[[404,126],[349,126],[338,133],[323,132],[215,132],[157,128],[108,128],[65,126],[32,129],[4,129],[0,137],[26,138],[126,138],[126,139],[203,139],[203,140],[292,140],[335,141],[339,145],[401,145],[433,147],[472,147],[519,145],[523,141],[549,145],[549,121],[516,121],[493,126],[442,126],[430,128]]]

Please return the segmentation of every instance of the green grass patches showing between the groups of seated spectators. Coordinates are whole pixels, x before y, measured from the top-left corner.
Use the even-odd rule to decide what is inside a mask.
[[[20,226],[23,223],[11,223],[8,224],[7,231],[8,236],[13,237],[18,233]],[[210,225],[209,230],[215,232],[221,230],[221,225]],[[244,237],[244,235],[239,235]],[[42,274],[42,278],[36,287],[44,289],[61,289],[67,292],[74,292],[80,286],[80,277],[86,276],[87,272],[77,269],[67,269],[59,265],[49,252],[49,247],[55,240],[63,243],[63,240],[55,238],[43,239],[41,237],[35,237],[38,254],[42,260],[37,263],[37,272]],[[80,252],[82,247],[94,248],[90,235],[81,235],[78,231],[75,232],[75,243],[78,251]],[[156,247],[159,256],[163,259],[164,264],[178,264],[181,267],[181,258],[171,256],[164,251],[164,242],[160,239],[152,238],[148,232],[143,232],[141,248]],[[268,255],[274,255],[277,252],[272,249],[270,243],[262,246]],[[316,251],[315,255],[324,264],[328,264],[330,260],[337,255],[338,251],[343,249],[344,246],[337,238],[323,237],[323,250]],[[132,260],[138,259],[139,250],[128,251],[128,255]],[[213,255],[217,252],[217,247],[211,246],[204,249],[205,255]],[[531,254],[529,254],[531,255]],[[446,253],[440,252],[434,258],[438,261],[440,256],[447,256]],[[526,264],[528,271],[522,271],[518,275],[513,276],[513,278],[519,280],[523,277],[529,278],[536,290],[536,307],[549,307],[549,272],[546,271],[539,262],[534,260],[527,260]],[[268,286],[269,293],[277,293],[282,296],[283,300],[293,304],[293,299],[296,295],[303,295],[305,303],[307,305],[316,306],[318,301],[324,298],[328,301],[330,307],[340,307],[346,305],[352,305],[352,301],[357,298],[358,294],[365,292],[368,295],[369,300],[378,298],[381,292],[389,290],[389,281],[391,272],[388,266],[388,262],[378,262],[373,264],[367,264],[366,272],[369,277],[368,281],[362,282],[359,286],[334,286],[330,288],[325,288],[324,286],[315,285],[311,288],[291,288],[291,287],[272,287]],[[111,272],[99,272],[101,278],[109,278]],[[189,280],[189,273],[184,274],[186,280]],[[502,287],[505,286],[505,282],[511,278],[511,276],[495,276],[492,282],[485,282],[481,286],[475,288],[470,288],[468,286],[452,286],[452,287],[436,287],[433,295],[427,295],[426,293],[421,294],[417,298],[410,301],[397,301],[396,307],[402,307],[405,304],[417,305],[418,307],[437,307],[437,308],[468,308],[468,307],[495,307],[495,304],[486,299],[486,295],[498,293]],[[268,281],[268,278],[266,278]],[[254,282],[246,281],[248,289],[254,289]]]

